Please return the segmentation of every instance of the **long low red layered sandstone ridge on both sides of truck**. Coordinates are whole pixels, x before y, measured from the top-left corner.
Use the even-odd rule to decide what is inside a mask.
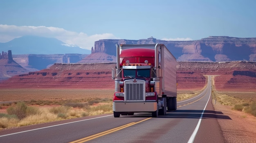
[[[13,76],[0,88],[115,89],[112,63],[54,64],[49,68]],[[219,91],[256,92],[256,62],[177,62],[177,90],[201,90],[204,75],[216,75]]]

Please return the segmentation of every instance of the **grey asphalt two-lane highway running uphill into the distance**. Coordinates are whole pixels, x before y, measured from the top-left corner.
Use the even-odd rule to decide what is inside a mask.
[[[166,116],[104,114],[31,125],[0,131],[0,143],[224,143],[217,119],[230,120],[213,109],[209,76],[200,95],[177,102]]]

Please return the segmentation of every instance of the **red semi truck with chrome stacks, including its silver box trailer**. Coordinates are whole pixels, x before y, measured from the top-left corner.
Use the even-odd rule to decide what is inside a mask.
[[[176,59],[164,44],[116,44],[114,117],[177,109]],[[167,109],[166,109],[167,108]]]

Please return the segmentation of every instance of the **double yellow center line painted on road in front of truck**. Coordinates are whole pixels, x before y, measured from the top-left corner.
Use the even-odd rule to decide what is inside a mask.
[[[76,141],[72,141],[72,142],[70,142],[70,143],[84,143],[84,142],[86,142],[86,141],[90,141],[90,140],[92,140],[92,139],[96,139],[96,138],[98,138],[98,137],[100,137],[100,136],[105,136],[106,134],[110,134],[110,133],[112,133],[112,132],[116,132],[116,131],[118,131],[118,130],[122,130],[122,129],[124,129],[124,128],[130,127],[130,126],[135,125],[135,124],[137,124],[137,123],[141,123],[141,122],[146,121],[146,120],[151,119],[151,118],[152,118],[152,117],[147,118],[147,119],[144,119],[144,120],[141,120],[141,121],[138,121],[138,122],[128,123],[128,124],[126,124],[126,125],[122,125],[122,126],[120,126],[120,127],[107,130],[107,131],[105,131],[105,132],[100,132],[100,133],[94,134],[94,135],[92,135],[92,136],[87,136],[87,137],[85,137],[85,138],[82,138],[82,139],[79,139],[79,140],[76,140]]]

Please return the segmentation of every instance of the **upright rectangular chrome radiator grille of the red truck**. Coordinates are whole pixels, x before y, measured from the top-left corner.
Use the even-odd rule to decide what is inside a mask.
[[[125,83],[125,100],[126,101],[145,101],[144,81]]]

